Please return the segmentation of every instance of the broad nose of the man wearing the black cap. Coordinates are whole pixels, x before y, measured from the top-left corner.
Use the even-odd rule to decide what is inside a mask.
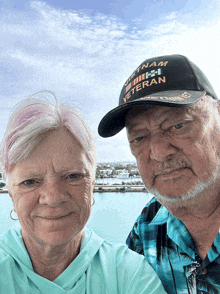
[[[172,145],[170,138],[161,132],[151,134],[150,137],[150,159],[156,161],[167,161],[177,153],[177,148]]]

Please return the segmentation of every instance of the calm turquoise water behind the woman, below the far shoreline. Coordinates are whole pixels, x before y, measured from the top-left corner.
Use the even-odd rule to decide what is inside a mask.
[[[142,192],[94,193],[95,204],[87,227],[93,229],[100,237],[112,242],[124,243],[135,220],[144,206],[152,198],[151,194]],[[8,194],[0,194],[0,234],[18,221],[10,218],[13,209]]]

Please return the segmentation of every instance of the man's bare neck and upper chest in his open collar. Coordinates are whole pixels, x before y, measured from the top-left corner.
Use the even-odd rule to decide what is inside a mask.
[[[202,259],[208,254],[220,228],[220,196],[218,193],[209,195],[207,191],[203,194],[179,204],[162,203],[184,223]]]

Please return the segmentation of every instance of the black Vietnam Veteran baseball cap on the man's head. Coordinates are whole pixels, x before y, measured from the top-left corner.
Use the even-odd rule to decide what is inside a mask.
[[[205,95],[218,99],[204,73],[183,55],[146,59],[128,78],[119,106],[101,120],[98,132],[111,137],[125,126],[126,113],[138,105],[190,107]]]

